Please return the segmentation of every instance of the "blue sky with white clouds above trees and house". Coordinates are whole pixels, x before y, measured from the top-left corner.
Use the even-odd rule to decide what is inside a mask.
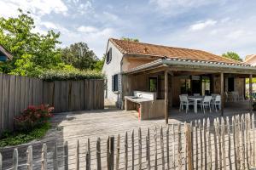
[[[108,38],[256,54],[255,0],[0,0],[0,16],[30,11],[35,31],[61,32],[61,47],[86,42],[99,58]]]

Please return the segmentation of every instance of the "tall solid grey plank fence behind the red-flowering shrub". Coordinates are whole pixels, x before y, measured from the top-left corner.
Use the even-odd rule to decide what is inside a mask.
[[[55,112],[104,108],[103,80],[44,82],[0,73],[0,134],[29,105],[49,104]]]

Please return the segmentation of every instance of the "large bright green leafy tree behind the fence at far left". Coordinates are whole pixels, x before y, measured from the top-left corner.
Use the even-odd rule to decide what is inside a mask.
[[[0,64],[0,71],[23,76],[36,76],[61,64],[61,53],[56,48],[60,33],[48,31],[46,35],[34,32],[30,13],[17,18],[0,18],[0,43],[14,55],[14,59]]]

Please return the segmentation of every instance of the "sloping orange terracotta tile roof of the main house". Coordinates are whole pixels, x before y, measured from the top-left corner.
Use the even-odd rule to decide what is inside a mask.
[[[119,48],[119,51],[123,54],[143,54],[158,57],[167,57],[170,59],[193,59],[193,60],[205,60],[224,63],[241,64],[240,61],[234,59],[227,59],[222,56],[207,53],[205,51],[189,48],[173,48],[162,45],[154,45],[143,42],[129,42],[124,40],[118,40],[110,38],[109,41]]]

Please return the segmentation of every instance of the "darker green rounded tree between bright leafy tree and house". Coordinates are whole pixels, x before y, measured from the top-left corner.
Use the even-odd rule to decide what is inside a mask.
[[[85,42],[77,42],[61,50],[61,59],[79,70],[93,70],[99,60]]]

